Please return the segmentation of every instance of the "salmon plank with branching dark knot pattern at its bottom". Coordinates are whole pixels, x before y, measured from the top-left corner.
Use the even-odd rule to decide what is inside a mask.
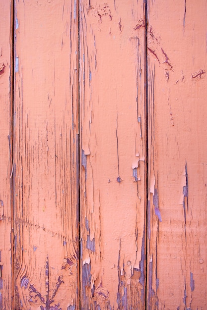
[[[15,309],[75,310],[77,4],[16,0],[15,12]]]

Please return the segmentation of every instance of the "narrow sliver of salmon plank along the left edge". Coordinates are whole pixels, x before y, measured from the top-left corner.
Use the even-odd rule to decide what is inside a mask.
[[[0,1],[0,310],[12,309],[12,11]]]

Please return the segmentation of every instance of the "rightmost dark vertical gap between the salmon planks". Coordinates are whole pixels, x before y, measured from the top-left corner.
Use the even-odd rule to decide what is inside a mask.
[[[148,7],[147,7],[147,0],[143,0],[144,3],[144,18],[145,18],[145,150],[146,150],[146,165],[145,165],[145,231],[146,231],[146,237],[145,237],[145,310],[147,310],[148,303],[147,303],[147,284],[148,284],[148,269],[147,269],[147,261],[148,261],[148,244],[147,244],[147,238],[148,238],[148,191],[149,191],[149,182],[148,182],[148,67],[147,67],[147,26],[148,26],[148,20],[147,20],[147,14],[148,14]]]

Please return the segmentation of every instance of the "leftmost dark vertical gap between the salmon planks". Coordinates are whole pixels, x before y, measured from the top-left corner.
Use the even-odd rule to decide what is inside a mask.
[[[14,305],[14,200],[13,200],[13,170],[14,170],[14,155],[13,155],[13,111],[14,111],[14,19],[15,19],[15,0],[10,2],[10,130],[9,130],[9,151],[10,151],[10,209],[11,209],[11,307],[15,309]]]

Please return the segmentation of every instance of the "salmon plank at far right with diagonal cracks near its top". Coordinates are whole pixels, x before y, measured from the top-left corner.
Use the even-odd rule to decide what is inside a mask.
[[[207,308],[207,1],[148,1],[147,309]]]

